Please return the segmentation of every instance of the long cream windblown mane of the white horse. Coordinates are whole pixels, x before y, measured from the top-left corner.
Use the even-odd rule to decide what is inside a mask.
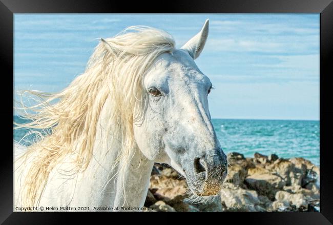
[[[39,139],[15,161],[24,166],[29,157],[36,156],[26,169],[22,183],[20,198],[23,206],[39,203],[50,172],[64,157],[74,156],[75,173],[87,168],[97,121],[108,97],[112,98],[112,110],[108,112],[107,132],[111,128],[115,131],[113,138],[122,146],[119,157],[128,160],[130,151],[136,148],[133,123],[142,120],[147,107],[143,76],[158,55],[174,47],[174,39],[169,33],[150,27],[129,27],[115,37],[101,39],[86,71],[63,91],[56,94],[25,92],[38,97],[38,104],[20,108],[31,122],[18,124],[15,129],[50,132],[41,135],[33,131],[39,134]]]

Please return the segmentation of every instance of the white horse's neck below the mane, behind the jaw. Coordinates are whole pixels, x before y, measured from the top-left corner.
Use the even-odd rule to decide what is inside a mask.
[[[113,131],[107,134],[105,130],[108,112],[112,110],[110,101],[108,98],[102,108],[93,157],[82,174],[77,199],[82,197],[83,192],[87,192],[91,196],[89,201],[94,202],[95,206],[113,206],[119,207],[119,210],[122,206],[142,207],[154,162],[148,160],[137,148],[133,149],[130,161],[119,161],[114,166],[121,148],[119,141],[115,141],[110,135]],[[108,135],[105,138],[107,145],[99,145],[103,135]]]

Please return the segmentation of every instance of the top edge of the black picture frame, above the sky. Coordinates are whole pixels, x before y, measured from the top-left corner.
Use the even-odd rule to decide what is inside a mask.
[[[1,0],[14,13],[86,13],[86,12],[144,12],[144,13],[320,13],[331,0],[182,0],[149,8],[144,2],[79,1],[79,0]]]

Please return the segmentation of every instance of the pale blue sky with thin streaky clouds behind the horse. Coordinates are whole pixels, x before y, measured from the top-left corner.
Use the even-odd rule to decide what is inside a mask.
[[[319,119],[319,14],[14,14],[14,88],[56,92],[84,72],[99,37],[132,25],[181,47],[210,19],[196,63],[213,118]]]

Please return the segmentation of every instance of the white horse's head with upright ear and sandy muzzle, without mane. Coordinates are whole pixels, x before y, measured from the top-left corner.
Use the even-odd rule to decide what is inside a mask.
[[[207,39],[208,20],[184,46],[160,54],[142,85],[148,106],[134,124],[141,152],[182,174],[197,196],[215,195],[227,174],[227,160],[216,137],[207,95],[212,83],[194,62]]]

